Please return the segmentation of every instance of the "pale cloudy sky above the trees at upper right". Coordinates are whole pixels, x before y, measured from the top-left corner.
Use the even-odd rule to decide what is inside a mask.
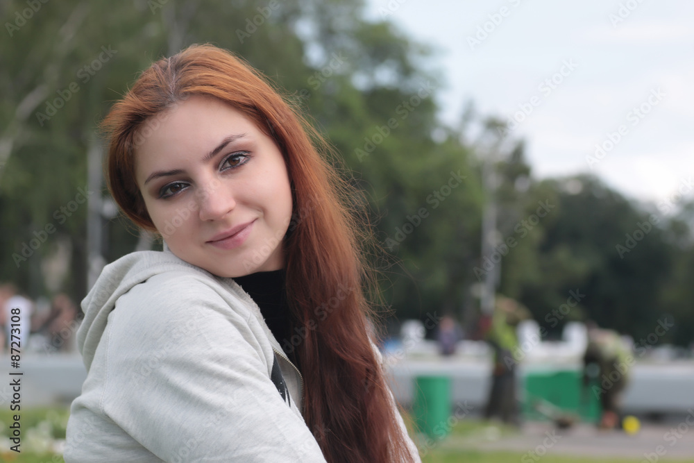
[[[467,101],[509,121],[536,178],[591,172],[638,201],[694,196],[694,2],[367,0],[367,12],[434,46],[443,121]]]

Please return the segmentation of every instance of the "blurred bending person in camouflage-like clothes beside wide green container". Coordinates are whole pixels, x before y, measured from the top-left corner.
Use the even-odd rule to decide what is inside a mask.
[[[593,384],[591,390],[598,396],[602,407],[598,426],[614,429],[620,425],[621,396],[628,384],[634,359],[618,332],[598,328],[593,321],[587,322],[586,328],[588,345],[583,356],[583,394],[593,378],[598,384]]]

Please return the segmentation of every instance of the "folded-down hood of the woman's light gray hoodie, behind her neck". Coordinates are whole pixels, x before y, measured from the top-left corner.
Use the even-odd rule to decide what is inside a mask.
[[[134,286],[149,278],[187,267],[210,275],[200,267],[195,267],[171,253],[166,246],[164,251],[137,251],[130,253],[105,266],[94,287],[82,301],[85,317],[77,330],[77,348],[82,355],[87,371],[92,366],[96,346],[106,328],[108,314],[115,308],[116,301]]]

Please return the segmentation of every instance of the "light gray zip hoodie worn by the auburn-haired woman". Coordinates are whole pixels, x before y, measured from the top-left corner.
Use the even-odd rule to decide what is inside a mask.
[[[231,278],[170,251],[131,253],[82,308],[87,379],[65,462],[325,462],[301,374]]]

